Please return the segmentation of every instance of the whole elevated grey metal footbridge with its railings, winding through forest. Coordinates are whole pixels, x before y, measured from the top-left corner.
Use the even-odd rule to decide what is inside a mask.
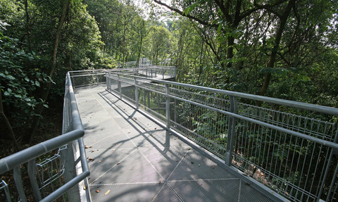
[[[3,181],[0,194],[337,201],[337,108],[168,81],[174,77],[172,67],[68,72],[63,134],[1,159],[1,175],[13,172],[17,190]]]

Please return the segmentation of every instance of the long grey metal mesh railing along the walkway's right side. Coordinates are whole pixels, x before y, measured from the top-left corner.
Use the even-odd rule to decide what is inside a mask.
[[[106,77],[108,91],[271,191],[291,201],[337,201],[337,108],[127,72]]]

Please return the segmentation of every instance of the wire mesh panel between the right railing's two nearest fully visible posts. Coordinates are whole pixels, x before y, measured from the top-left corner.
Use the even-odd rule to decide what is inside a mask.
[[[226,115],[177,99],[170,102],[170,125],[185,137],[225,158],[229,119]]]

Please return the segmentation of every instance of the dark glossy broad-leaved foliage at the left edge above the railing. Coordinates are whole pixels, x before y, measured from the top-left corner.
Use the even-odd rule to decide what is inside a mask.
[[[51,82],[51,78],[39,68],[25,67],[27,63],[39,63],[40,58],[35,52],[27,53],[18,46],[18,39],[6,37],[0,32],[0,89],[4,94],[4,107],[11,109],[6,113],[15,120],[15,127],[29,124],[27,121],[35,115],[35,106],[44,103],[35,96],[35,91],[43,82]]]

